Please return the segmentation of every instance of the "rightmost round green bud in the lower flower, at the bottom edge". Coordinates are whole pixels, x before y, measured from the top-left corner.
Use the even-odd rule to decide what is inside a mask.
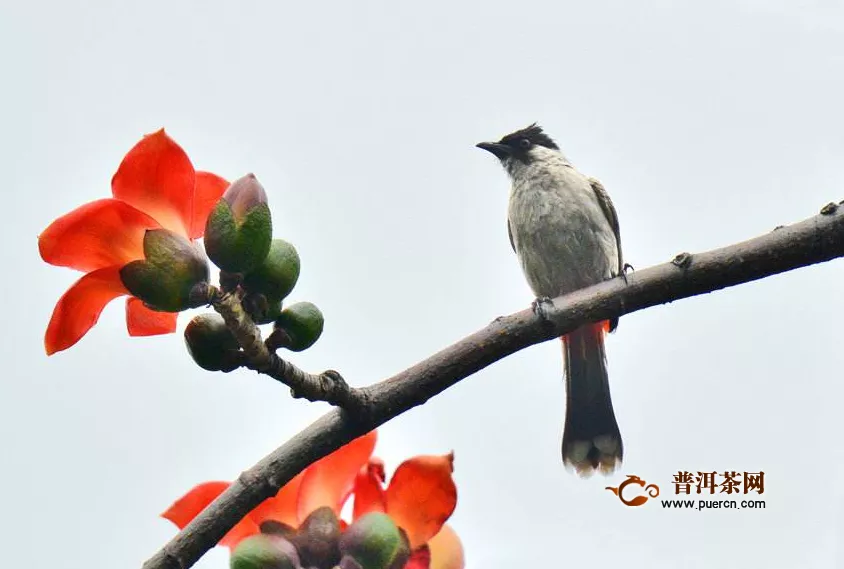
[[[410,559],[410,543],[390,516],[373,512],[343,533],[340,554],[351,556],[361,569],[401,569]]]

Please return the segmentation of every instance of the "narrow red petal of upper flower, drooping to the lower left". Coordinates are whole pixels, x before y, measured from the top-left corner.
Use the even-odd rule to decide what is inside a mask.
[[[124,294],[129,291],[120,281],[119,267],[99,269],[76,281],[53,309],[44,336],[47,355],[78,342],[97,323],[105,305]]]

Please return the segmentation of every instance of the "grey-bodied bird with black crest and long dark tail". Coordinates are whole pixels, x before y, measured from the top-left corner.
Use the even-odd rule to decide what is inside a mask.
[[[481,142],[510,176],[510,244],[540,307],[548,298],[624,273],[618,216],[604,187],[578,172],[536,124]],[[587,324],[563,342],[563,463],[580,475],[609,473],[623,448],[610,399],[604,336],[618,320]]]

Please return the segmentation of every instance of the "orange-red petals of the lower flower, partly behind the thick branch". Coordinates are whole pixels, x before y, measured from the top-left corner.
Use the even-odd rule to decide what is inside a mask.
[[[463,547],[445,525],[457,504],[451,478],[453,454],[406,460],[385,489],[383,463],[371,458],[375,441],[372,431],[309,466],[247,514],[220,545],[234,549],[244,538],[260,533],[261,524],[268,521],[296,528],[323,506],[339,516],[343,504],[354,495],[354,519],[372,511],[386,512],[407,533],[414,554],[406,569],[463,569]],[[229,485],[200,484],[162,516],[184,528]]]

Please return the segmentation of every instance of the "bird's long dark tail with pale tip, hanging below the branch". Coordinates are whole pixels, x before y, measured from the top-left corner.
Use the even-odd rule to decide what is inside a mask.
[[[596,469],[608,474],[621,464],[623,454],[604,352],[608,324],[588,324],[561,338],[566,368],[563,463],[580,475]]]

